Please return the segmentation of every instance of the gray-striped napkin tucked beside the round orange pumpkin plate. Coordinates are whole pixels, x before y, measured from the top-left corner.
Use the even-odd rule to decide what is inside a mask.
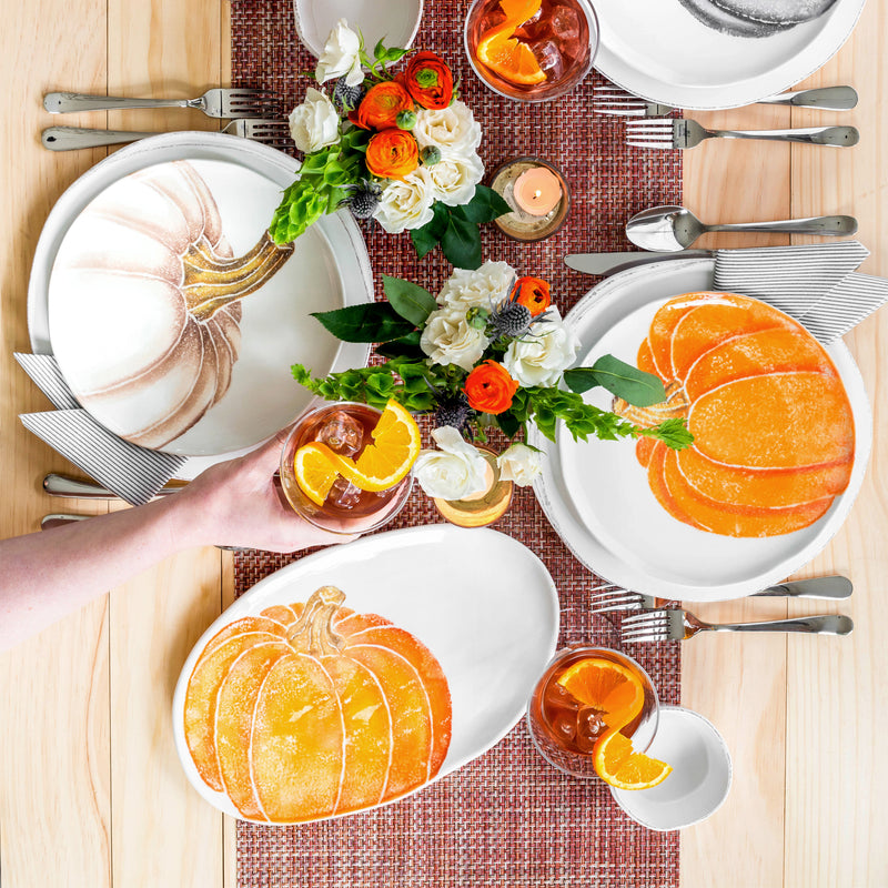
[[[859,241],[717,250],[715,289],[760,299],[828,344],[888,302],[888,280],[856,273],[868,255]]]

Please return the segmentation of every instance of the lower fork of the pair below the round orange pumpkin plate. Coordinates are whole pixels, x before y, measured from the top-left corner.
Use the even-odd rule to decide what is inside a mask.
[[[814,635],[848,635],[854,629],[850,617],[827,614],[794,619],[767,619],[758,623],[705,623],[689,610],[669,607],[626,617],[620,640],[682,642],[702,632],[804,632]]]

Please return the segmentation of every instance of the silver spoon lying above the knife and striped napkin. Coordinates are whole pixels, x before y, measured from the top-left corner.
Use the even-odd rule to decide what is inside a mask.
[[[636,213],[626,223],[626,236],[636,246],[660,252],[685,250],[707,231],[780,231],[842,238],[857,232],[857,220],[851,215],[819,215],[810,219],[785,219],[779,222],[706,225],[684,206],[654,206]]]

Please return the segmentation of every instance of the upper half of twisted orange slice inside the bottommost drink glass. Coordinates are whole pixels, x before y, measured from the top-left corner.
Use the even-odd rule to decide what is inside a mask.
[[[557,680],[572,697],[594,707],[609,728],[628,725],[644,706],[645,690],[638,676],[603,657],[581,659]]]

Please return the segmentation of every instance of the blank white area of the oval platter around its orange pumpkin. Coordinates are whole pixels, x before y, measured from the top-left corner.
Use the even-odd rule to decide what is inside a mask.
[[[448,524],[390,531],[283,567],[206,629],[185,660],[173,695],[182,767],[198,793],[232,817],[241,815],[224,794],[203,783],[185,744],[184,698],[194,664],[223,626],[274,604],[304,602],[323,585],[339,586],[345,605],[357,613],[379,614],[415,635],[441,664],[450,685],[453,734],[434,779],[505,737],[555,653],[555,584],[536,555],[496,531]]]

